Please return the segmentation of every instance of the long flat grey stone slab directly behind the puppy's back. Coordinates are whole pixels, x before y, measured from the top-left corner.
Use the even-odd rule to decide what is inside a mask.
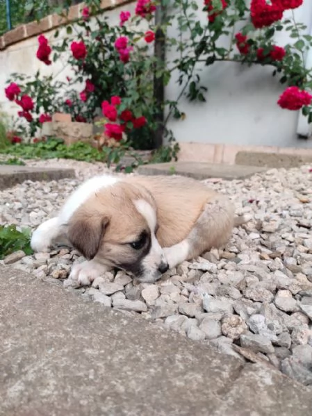
[[[241,179],[258,172],[264,172],[264,167],[243,165],[222,165],[220,163],[170,162],[141,165],[138,173],[143,175],[182,175],[202,181],[206,178]]]

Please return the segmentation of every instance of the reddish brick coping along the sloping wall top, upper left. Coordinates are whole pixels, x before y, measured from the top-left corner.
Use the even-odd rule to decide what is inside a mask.
[[[101,0],[101,11],[99,11],[99,13],[132,2],[133,0]],[[2,36],[0,36],[0,51],[3,51],[11,44],[21,42],[22,40],[32,38],[33,36],[41,35],[41,33],[51,31],[52,29],[55,29],[58,26],[63,26],[64,24],[75,22],[77,19],[81,18],[81,13],[85,6],[85,3],[79,3],[74,6],[71,6],[68,10],[66,17],[60,17],[54,14],[43,17],[39,22],[30,22],[27,24],[17,26],[11,31],[8,31],[4,33]]]

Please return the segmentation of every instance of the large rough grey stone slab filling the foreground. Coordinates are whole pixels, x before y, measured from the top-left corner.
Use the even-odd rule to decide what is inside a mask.
[[[1,416],[305,416],[269,367],[0,266]]]

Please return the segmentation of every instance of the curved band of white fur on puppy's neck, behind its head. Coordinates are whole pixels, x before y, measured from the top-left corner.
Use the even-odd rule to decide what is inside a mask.
[[[77,208],[88,198],[92,197],[101,188],[108,188],[120,181],[119,178],[110,175],[95,176],[79,186],[67,199],[58,216],[60,224],[66,224]]]

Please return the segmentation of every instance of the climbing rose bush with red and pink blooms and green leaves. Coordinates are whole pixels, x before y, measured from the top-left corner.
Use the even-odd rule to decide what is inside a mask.
[[[94,122],[102,113],[109,138],[117,142],[127,138],[131,146],[147,149],[153,147],[160,110],[166,113],[164,132],[170,133],[166,128],[168,119],[184,117],[179,110],[183,95],[190,101],[205,101],[207,86],[200,78],[203,64],[208,67],[217,61],[231,61],[272,67],[273,76],[286,84],[285,92],[277,97],[278,105],[288,110],[302,109],[312,122],[312,72],[304,63],[312,37],[289,12],[302,3],[251,0],[247,8],[245,0],[204,0],[202,10],[198,10],[193,0],[173,0],[162,21],[155,23],[156,7],[164,9],[165,1],[160,6],[154,0],[138,0],[134,15],[123,10],[120,24],[112,26],[99,13],[98,3],[88,1],[81,20],[67,25],[67,37],[61,42],[49,44],[44,35],[38,38],[37,57],[45,65],[66,54],[70,70],[67,81],[42,77],[40,72],[33,78],[12,74],[6,97],[22,108],[19,117],[28,122],[33,136],[56,110],[70,113],[76,122]],[[206,15],[206,22],[198,18],[199,13]],[[240,31],[236,29],[238,23]],[[158,42],[158,49],[163,48],[167,26],[172,24],[178,33],[166,38],[168,58],[164,61],[162,55],[154,55],[154,43]],[[291,42],[279,45],[274,35],[283,30],[290,34]],[[229,40],[228,47],[220,42],[224,36]],[[160,104],[155,80],[167,85],[173,72],[179,74],[181,91],[176,99]],[[82,85],[80,90],[76,85]]]

